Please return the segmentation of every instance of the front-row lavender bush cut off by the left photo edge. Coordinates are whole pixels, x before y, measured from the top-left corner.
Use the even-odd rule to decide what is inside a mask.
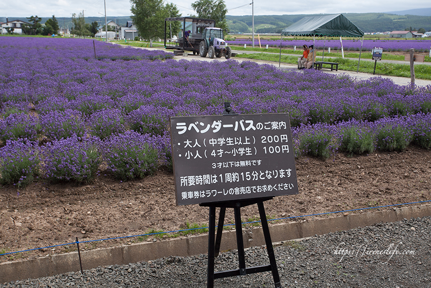
[[[0,182],[25,187],[38,177],[39,163],[37,142],[8,140],[0,149]]]

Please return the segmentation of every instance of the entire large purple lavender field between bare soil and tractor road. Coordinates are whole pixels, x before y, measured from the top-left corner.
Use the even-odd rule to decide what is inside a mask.
[[[0,37],[0,182],[120,180],[170,167],[170,116],[290,113],[296,156],[431,148],[431,87],[174,60],[92,40]]]

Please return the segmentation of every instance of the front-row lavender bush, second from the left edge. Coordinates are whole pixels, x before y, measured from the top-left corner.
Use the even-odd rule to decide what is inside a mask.
[[[45,176],[54,181],[91,181],[98,173],[100,140],[73,135],[42,148]]]

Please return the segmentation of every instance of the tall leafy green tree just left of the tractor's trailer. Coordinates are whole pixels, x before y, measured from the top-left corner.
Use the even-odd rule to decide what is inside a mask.
[[[169,17],[163,0],[130,0],[133,24],[143,39],[157,40],[164,37],[165,18]]]

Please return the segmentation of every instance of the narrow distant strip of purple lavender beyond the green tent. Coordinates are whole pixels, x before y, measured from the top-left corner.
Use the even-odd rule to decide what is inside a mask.
[[[343,41],[343,50],[360,50],[361,49],[361,41],[359,40],[342,40]],[[234,40],[229,41],[230,45],[252,45],[252,40]],[[297,49],[301,49],[303,45],[312,45],[312,40],[282,40],[282,47],[294,47]],[[280,40],[256,40],[255,39],[255,47],[261,46],[270,46],[270,47],[280,47]],[[314,47],[316,49],[331,49],[341,50],[341,42],[340,40],[323,40],[318,39],[314,41]],[[371,51],[374,47],[381,47],[383,51],[406,51],[408,52],[411,48],[414,48],[416,52],[427,52],[431,49],[431,40],[364,40],[362,50],[363,51]]]

